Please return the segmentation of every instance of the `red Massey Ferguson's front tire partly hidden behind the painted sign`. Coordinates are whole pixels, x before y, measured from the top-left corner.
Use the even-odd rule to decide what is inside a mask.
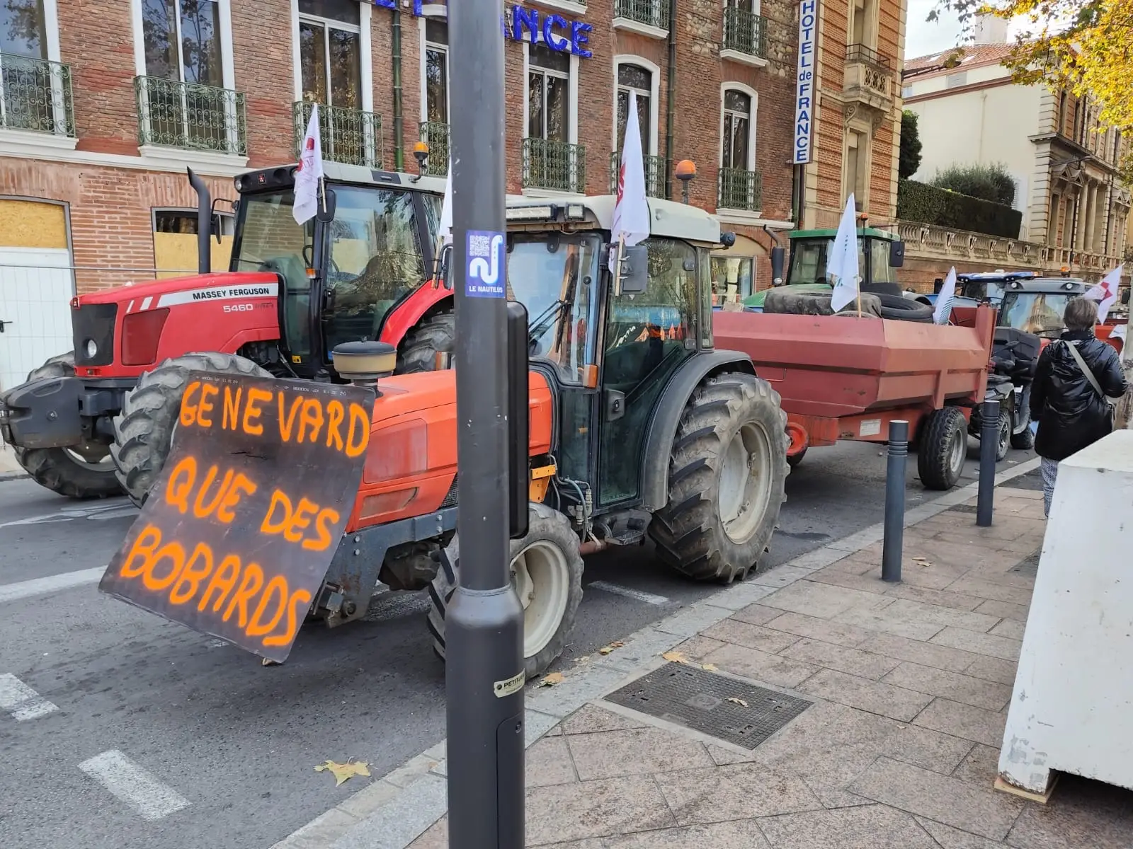
[[[121,413],[114,417],[114,444],[110,446],[118,480],[139,507],[169,457],[173,428],[181,414],[181,395],[193,371],[271,377],[252,360],[222,353],[185,354],[142,375],[138,385],[126,394]]]

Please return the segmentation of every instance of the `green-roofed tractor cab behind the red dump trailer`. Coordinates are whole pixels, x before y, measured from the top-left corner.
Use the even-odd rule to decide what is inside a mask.
[[[826,258],[834,246],[836,230],[793,230],[787,233],[791,258],[785,285],[801,291],[828,292]],[[776,248],[776,250],[778,250]],[[877,228],[858,229],[858,268],[861,291],[898,294],[896,269],[904,265],[905,243],[895,233]],[[774,258],[773,258],[774,265]],[[743,301],[744,307],[761,311],[768,290],[756,292]]]

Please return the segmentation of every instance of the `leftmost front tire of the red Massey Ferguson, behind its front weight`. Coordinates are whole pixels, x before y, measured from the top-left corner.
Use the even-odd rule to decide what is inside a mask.
[[[41,377],[74,377],[75,353],[52,357],[33,369],[28,381]],[[32,480],[67,498],[109,498],[122,494],[105,443],[83,443],[66,448],[19,448],[12,446],[16,462]]]

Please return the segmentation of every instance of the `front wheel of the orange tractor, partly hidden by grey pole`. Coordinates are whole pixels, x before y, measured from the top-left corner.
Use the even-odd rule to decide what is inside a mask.
[[[428,588],[428,629],[444,660],[444,616],[460,582],[460,541],[452,538]],[[582,600],[582,556],[578,534],[562,513],[531,505],[527,535],[511,541],[512,585],[523,606],[523,675],[546,671],[566,648]]]

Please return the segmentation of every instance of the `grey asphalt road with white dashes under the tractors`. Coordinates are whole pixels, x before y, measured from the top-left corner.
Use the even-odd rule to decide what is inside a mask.
[[[787,479],[772,565],[879,522],[883,454],[811,451]],[[1031,456],[1013,451],[1000,469]],[[914,456],[909,480],[910,507],[939,495],[917,480]],[[355,757],[381,775],[444,737],[423,595],[389,593],[363,621],[305,628],[286,664],[262,667],[99,594],[93,569],[135,515],[125,499],[0,482],[0,846],[266,849],[361,786],[335,789],[316,764]],[[26,594],[24,582],[44,578]],[[716,589],[666,572],[649,546],[591,558],[585,580],[630,594],[587,590],[568,667]]]

